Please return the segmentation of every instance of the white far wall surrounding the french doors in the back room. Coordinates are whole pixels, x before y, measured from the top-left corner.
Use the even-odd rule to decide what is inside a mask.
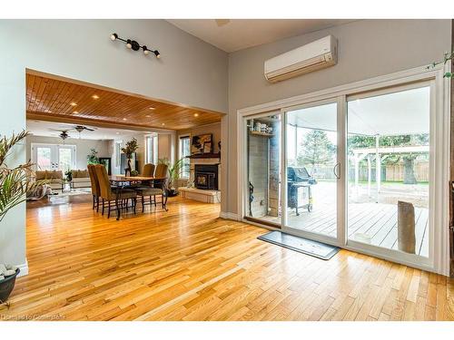
[[[45,144],[63,144],[61,138],[58,137],[44,137],[44,136],[29,136],[26,141],[26,159],[32,158],[32,143],[45,143]],[[64,144],[75,145],[75,165],[77,170],[86,169],[86,156],[91,153],[91,149],[98,151],[98,157],[111,157],[109,153],[109,141],[95,141],[95,140],[79,140],[77,138],[68,138]]]

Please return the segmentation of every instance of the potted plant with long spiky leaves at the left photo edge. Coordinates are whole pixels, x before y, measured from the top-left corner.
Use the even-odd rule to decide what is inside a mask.
[[[0,139],[0,227],[6,213],[24,202],[28,191],[44,184],[43,180],[33,180],[32,162],[28,161],[14,168],[9,168],[5,163],[9,151],[27,135],[27,131],[22,131],[17,135],[13,133],[10,138],[4,136]],[[0,259],[0,304],[5,303],[13,291],[15,277],[19,272],[18,267],[7,265]]]

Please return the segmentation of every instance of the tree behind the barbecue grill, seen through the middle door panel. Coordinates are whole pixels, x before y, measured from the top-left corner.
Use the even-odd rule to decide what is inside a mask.
[[[325,131],[312,130],[301,142],[302,150],[298,155],[299,165],[311,164],[311,173],[316,165],[324,165],[332,159],[336,146],[328,139]]]

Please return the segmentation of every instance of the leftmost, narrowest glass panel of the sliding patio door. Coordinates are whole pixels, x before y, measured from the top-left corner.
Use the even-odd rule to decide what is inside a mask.
[[[281,113],[245,123],[245,218],[281,228]]]

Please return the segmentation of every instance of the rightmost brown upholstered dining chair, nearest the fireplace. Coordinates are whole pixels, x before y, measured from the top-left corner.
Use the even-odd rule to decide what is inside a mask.
[[[160,180],[153,180],[153,187],[138,187],[134,188],[137,196],[141,198],[142,212],[145,205],[154,205],[156,207],[156,196],[161,196],[161,205],[167,211],[167,171],[169,167],[166,164],[158,164],[154,170],[154,177]]]

